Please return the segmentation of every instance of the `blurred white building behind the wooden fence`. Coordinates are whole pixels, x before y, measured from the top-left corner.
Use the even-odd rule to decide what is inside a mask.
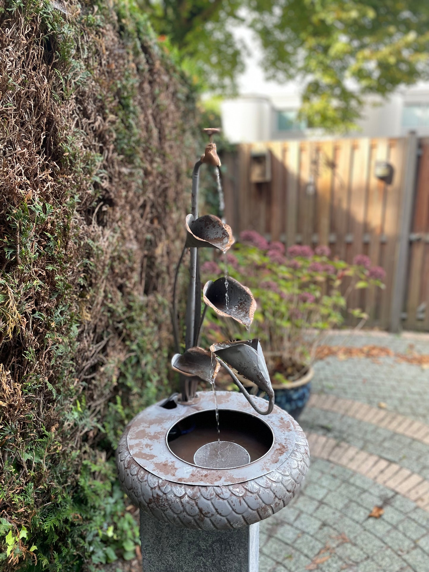
[[[221,104],[224,134],[232,143],[323,136],[321,130],[297,121],[299,108],[299,94],[290,88],[276,94],[241,94]],[[368,97],[358,124],[360,130],[349,136],[402,137],[410,130],[429,136],[429,84],[400,89],[388,100]]]

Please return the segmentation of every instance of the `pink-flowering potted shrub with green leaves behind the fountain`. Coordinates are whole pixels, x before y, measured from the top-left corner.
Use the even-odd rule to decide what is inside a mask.
[[[257,309],[249,337],[264,341],[277,382],[304,375],[323,332],[340,326],[347,312],[359,320],[356,327],[362,327],[366,313],[361,308],[347,308],[353,290],[384,288],[383,268],[372,267],[367,256],[358,255],[348,264],[332,260],[330,255],[327,246],[313,250],[296,244],[286,250],[283,243],[269,243],[257,232],[245,231],[225,258],[202,264],[201,272],[207,279],[228,269],[229,276],[251,288]],[[237,336],[232,321],[225,325],[214,314],[210,320],[212,339]]]

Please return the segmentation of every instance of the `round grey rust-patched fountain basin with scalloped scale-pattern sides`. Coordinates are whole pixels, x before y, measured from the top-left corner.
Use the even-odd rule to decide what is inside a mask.
[[[286,506],[309,465],[308,443],[300,426],[279,407],[264,417],[241,394],[218,392],[221,431],[222,416],[226,422],[228,411],[241,418],[241,435],[248,434],[253,443],[260,434],[255,427],[263,423],[267,430],[259,438],[260,454],[255,452],[253,459],[251,455],[251,463],[226,469],[197,467],[171,450],[174,440],[169,441],[168,434],[193,414],[213,410],[212,392],[199,392],[198,398],[192,405],[178,403],[169,409],[157,403],[126,427],[117,466],[132,502],[160,521],[202,530],[251,525]],[[256,399],[262,407],[264,400]]]

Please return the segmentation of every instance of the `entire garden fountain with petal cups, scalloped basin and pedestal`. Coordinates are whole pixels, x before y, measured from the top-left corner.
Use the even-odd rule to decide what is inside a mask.
[[[198,347],[208,306],[244,327],[252,323],[251,291],[228,276],[202,288],[199,248],[227,252],[231,228],[218,217],[198,217],[198,172],[220,166],[212,136],[192,176],[192,209],[186,217],[190,251],[185,351],[180,353],[173,300],[181,394],[141,411],[128,424],[117,449],[122,486],[140,507],[144,572],[257,572],[259,522],[291,501],[309,464],[308,443],[295,420],[275,407],[274,393],[259,340],[227,341]],[[178,272],[178,269],[177,269]],[[177,272],[176,280],[177,281]],[[224,367],[239,392],[215,391]],[[267,395],[249,395],[240,377]],[[208,391],[196,391],[206,382]]]

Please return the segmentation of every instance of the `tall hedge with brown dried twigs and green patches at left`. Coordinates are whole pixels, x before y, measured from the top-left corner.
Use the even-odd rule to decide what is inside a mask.
[[[194,94],[134,0],[0,6],[0,569],[93,570],[138,543],[113,451],[169,391]]]

